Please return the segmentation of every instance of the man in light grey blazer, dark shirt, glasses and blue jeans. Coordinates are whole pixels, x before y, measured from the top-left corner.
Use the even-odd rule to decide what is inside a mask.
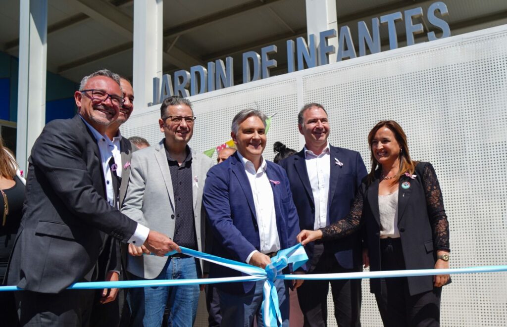
[[[202,190],[211,159],[187,144],[194,113],[190,101],[169,97],[160,108],[165,138],[132,155],[130,181],[122,213],[149,228],[163,231],[179,246],[203,251],[205,213]],[[144,247],[129,247],[127,270],[135,279],[198,278],[202,271],[192,257],[142,256]],[[199,285],[136,288],[129,291],[134,326],[160,326],[166,305],[175,326],[194,323]]]

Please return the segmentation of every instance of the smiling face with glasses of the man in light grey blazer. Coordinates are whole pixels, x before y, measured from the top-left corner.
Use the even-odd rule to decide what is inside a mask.
[[[192,109],[186,104],[168,106],[164,117],[169,116],[193,116]],[[173,122],[171,118],[159,119],[160,131],[164,133],[166,143],[173,145],[187,145],[194,133],[194,124],[189,124],[185,119]]]

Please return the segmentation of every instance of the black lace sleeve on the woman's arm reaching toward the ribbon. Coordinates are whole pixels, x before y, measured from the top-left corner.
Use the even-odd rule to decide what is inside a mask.
[[[363,203],[364,195],[361,190],[355,195],[354,203],[350,208],[350,213],[345,219],[339,220],[334,224],[320,228],[322,231],[322,240],[332,240],[350,235],[358,230],[363,223]]]

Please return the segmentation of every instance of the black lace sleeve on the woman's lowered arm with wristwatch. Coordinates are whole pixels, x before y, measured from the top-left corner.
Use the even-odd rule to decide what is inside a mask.
[[[437,250],[450,251],[449,222],[444,210],[444,199],[437,174],[431,164],[424,165],[421,177],[426,195],[429,223],[433,232],[433,246]]]

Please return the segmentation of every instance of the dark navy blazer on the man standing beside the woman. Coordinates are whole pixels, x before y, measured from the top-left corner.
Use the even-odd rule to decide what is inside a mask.
[[[336,159],[343,165],[337,164]],[[330,186],[328,197],[328,217],[330,224],[345,218],[354,201],[355,193],[361,180],[367,175],[363,158],[359,152],[330,145]],[[291,183],[291,190],[296,203],[301,229],[313,230],[315,222],[315,205],[312,187],[306,171],[305,152],[300,152],[280,162]],[[335,254],[338,263],[346,269],[360,268],[361,235],[353,233],[338,241],[324,242],[326,252]],[[311,272],[319,258],[313,256],[313,242],[305,247],[308,255],[306,270]]]

